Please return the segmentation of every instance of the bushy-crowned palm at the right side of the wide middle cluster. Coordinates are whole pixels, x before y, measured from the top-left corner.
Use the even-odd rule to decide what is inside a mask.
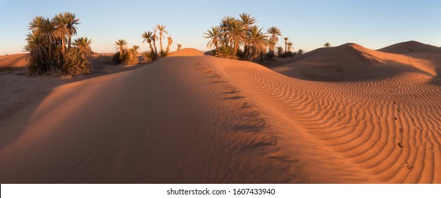
[[[247,45],[249,46],[249,50],[252,51],[248,57],[249,61],[255,59],[261,52],[265,52],[268,40],[266,35],[262,32],[262,28],[259,29],[257,25],[249,27]]]

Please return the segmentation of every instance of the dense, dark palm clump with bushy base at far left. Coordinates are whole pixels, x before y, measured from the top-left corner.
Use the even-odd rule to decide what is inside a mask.
[[[35,16],[29,23],[30,33],[24,50],[28,51],[28,74],[37,76],[49,71],[62,74],[90,74],[88,56],[92,54],[88,37],[76,35],[80,24],[74,13],[59,13],[52,19]]]

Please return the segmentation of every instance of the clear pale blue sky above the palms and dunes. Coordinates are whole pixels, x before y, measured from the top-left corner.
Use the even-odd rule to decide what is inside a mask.
[[[223,16],[243,12],[254,16],[264,30],[280,28],[295,50],[314,50],[324,42],[356,42],[371,49],[408,40],[441,46],[440,8],[439,0],[0,0],[0,55],[22,53],[28,23],[35,16],[52,18],[64,11],[76,13],[81,23],[78,36],[90,37],[94,52],[115,52],[113,43],[120,38],[148,50],[141,33],[156,24],[167,25],[175,42],[171,50],[182,43],[205,51],[204,32]]]

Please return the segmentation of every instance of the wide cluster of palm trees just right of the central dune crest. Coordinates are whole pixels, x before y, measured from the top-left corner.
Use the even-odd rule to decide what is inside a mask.
[[[271,27],[264,32],[254,25],[256,22],[248,13],[241,13],[239,19],[225,16],[218,26],[204,33],[204,37],[209,39],[207,47],[214,49],[212,52],[217,57],[249,61],[259,56],[261,59],[273,59],[278,37],[282,36],[281,30]],[[292,42],[290,45],[292,47]]]

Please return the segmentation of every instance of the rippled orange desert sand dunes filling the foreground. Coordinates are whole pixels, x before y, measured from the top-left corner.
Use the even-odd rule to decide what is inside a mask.
[[[2,73],[0,182],[441,183],[439,47],[346,44],[271,69],[170,55],[84,79]]]

